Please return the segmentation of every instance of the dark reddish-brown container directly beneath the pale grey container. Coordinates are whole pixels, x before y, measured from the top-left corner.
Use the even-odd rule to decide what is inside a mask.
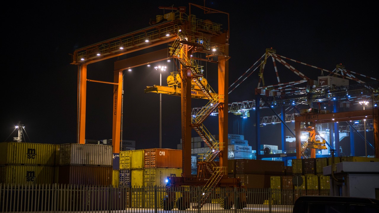
[[[97,145],[96,145],[97,146]],[[59,166],[58,183],[109,186],[112,184],[111,166]]]

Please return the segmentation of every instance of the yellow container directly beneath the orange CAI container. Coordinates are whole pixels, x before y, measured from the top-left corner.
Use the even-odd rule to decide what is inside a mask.
[[[175,175],[175,177],[180,177],[182,172],[182,169],[144,169],[144,186],[166,186],[167,177],[172,175]]]

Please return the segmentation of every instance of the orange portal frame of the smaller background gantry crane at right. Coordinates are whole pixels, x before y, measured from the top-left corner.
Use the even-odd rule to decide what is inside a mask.
[[[367,117],[366,117],[367,116]],[[342,122],[351,120],[363,120],[363,119],[373,119],[374,124],[374,153],[375,156],[379,156],[379,140],[378,140],[378,119],[379,119],[379,109],[370,110],[357,110],[348,111],[341,113],[328,113],[328,114],[305,114],[302,116],[295,117],[295,132],[296,132],[296,158],[301,158],[301,141],[300,141],[300,125],[301,122],[316,122],[318,124],[332,123],[332,122]],[[366,142],[365,142],[366,143]]]

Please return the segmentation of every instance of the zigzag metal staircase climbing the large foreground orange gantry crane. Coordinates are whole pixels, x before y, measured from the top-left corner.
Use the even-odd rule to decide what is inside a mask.
[[[206,41],[202,39],[202,44],[196,43],[195,41],[188,41],[188,38],[194,38],[194,35],[186,35],[183,30],[179,30],[177,33],[178,37],[172,44],[170,48],[171,56],[177,58],[180,61],[180,64],[186,69],[191,69],[191,85],[195,84],[199,87],[199,89],[205,94],[208,98],[209,102],[205,107],[203,107],[196,115],[191,117],[191,127],[199,134],[199,136],[203,139],[203,141],[210,148],[207,153],[204,153],[204,157],[202,157],[201,161],[204,162],[201,164],[201,168],[199,170],[206,171],[207,174],[210,175],[209,180],[202,188],[202,195],[200,197],[200,205],[193,206],[193,208],[201,208],[206,200],[208,199],[210,193],[213,191],[215,186],[222,179],[223,175],[226,175],[227,168],[226,167],[217,167],[213,162],[215,158],[220,153],[220,144],[216,141],[216,139],[211,135],[211,133],[205,128],[202,122],[220,105],[223,105],[224,95],[219,95],[214,92],[214,90],[207,84],[205,80],[203,80],[202,70],[199,69],[199,65],[196,63],[196,60],[192,58],[188,58],[184,47],[203,47],[206,49]],[[205,173],[204,171],[204,173]],[[203,172],[200,172],[203,174]],[[205,174],[204,174],[205,175]]]

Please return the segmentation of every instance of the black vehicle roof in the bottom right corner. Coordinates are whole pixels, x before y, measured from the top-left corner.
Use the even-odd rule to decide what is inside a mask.
[[[366,197],[301,196],[293,213],[379,213],[379,200]]]

